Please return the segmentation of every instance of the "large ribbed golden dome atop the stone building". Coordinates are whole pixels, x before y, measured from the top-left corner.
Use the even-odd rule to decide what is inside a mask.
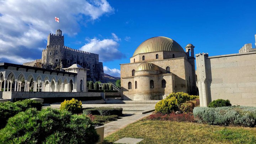
[[[183,48],[173,39],[167,37],[153,37],[147,39],[139,45],[134,55],[141,53],[159,52],[159,51],[175,51],[184,52]]]

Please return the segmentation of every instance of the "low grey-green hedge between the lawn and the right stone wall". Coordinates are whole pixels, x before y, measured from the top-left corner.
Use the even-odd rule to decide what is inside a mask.
[[[195,107],[194,117],[198,122],[212,125],[238,125],[255,127],[256,107],[236,106],[236,107]]]

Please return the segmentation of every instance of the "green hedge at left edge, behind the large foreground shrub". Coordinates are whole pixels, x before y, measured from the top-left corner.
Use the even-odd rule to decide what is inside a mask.
[[[28,108],[36,108],[38,111],[42,109],[42,104],[35,100],[22,100],[17,102],[3,102],[0,103],[0,129],[5,127],[7,120],[15,114],[26,111]]]

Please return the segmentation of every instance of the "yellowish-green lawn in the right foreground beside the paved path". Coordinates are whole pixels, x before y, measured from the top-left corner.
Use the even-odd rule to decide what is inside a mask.
[[[140,144],[256,143],[256,128],[222,127],[192,122],[140,120],[109,135],[105,144],[123,137],[144,138]]]

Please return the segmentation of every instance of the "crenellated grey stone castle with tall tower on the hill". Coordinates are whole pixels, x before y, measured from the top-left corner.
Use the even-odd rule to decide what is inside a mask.
[[[99,62],[99,55],[64,46],[64,36],[61,30],[56,34],[49,34],[46,49],[42,51],[42,58],[33,62],[23,63],[26,66],[62,70],[73,64],[79,64],[87,71],[87,81],[104,79],[103,64]]]

